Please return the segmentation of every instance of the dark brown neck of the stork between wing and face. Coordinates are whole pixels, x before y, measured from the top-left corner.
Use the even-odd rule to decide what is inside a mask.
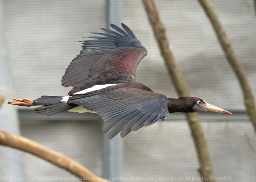
[[[189,107],[188,103],[184,99],[168,98],[168,110],[172,112],[194,112],[192,107]]]

